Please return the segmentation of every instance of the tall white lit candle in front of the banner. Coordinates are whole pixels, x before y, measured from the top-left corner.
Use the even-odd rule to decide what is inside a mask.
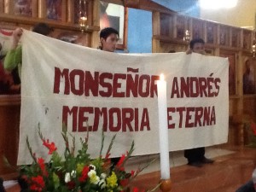
[[[166,81],[164,80],[163,74],[160,74],[160,80],[157,81],[157,93],[160,141],[160,172],[161,179],[168,179],[170,178],[170,164],[167,127]]]

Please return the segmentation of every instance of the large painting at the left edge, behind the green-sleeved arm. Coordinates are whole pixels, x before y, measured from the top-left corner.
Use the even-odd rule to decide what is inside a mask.
[[[20,77],[18,68],[7,71],[3,62],[12,42],[13,29],[0,28],[0,95],[20,94]]]

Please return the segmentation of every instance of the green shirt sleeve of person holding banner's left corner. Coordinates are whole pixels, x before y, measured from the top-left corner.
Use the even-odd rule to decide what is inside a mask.
[[[15,67],[21,64],[22,49],[18,46],[16,49],[9,50],[4,58],[4,68],[12,71]]]

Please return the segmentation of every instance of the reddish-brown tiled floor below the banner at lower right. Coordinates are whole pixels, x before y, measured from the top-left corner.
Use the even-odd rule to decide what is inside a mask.
[[[139,165],[157,159],[133,181],[131,188],[153,189],[159,183],[158,156],[140,156],[128,162],[126,171],[136,170]],[[206,156],[215,162],[201,168],[187,166],[183,151],[171,153],[170,156],[172,192],[235,192],[250,179],[256,165],[256,148],[207,148]],[[19,191],[17,185],[7,189],[7,192],[16,191]]]

